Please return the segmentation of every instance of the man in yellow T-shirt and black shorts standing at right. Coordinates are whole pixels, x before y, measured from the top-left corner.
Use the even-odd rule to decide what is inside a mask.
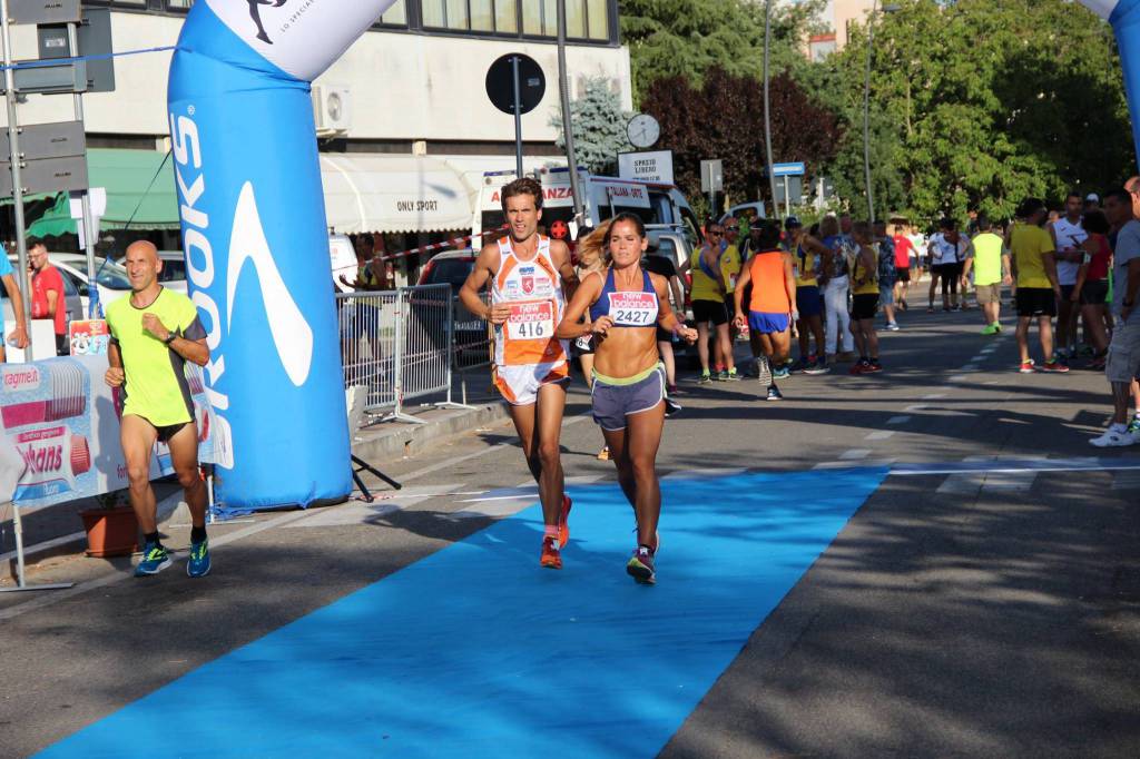
[[[1052,360],[1053,317],[1061,286],[1057,283],[1057,262],[1053,259],[1053,238],[1042,229],[1045,204],[1035,197],[1026,198],[1017,210],[1017,221],[1009,231],[1009,250],[1017,276],[1017,348],[1021,353],[1021,374],[1033,374],[1037,368],[1029,358],[1029,323],[1037,320],[1043,364],[1042,372],[1068,372],[1064,364]]]

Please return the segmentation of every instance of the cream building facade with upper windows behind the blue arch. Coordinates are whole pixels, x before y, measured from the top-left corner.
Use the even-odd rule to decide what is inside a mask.
[[[173,46],[193,2],[90,0],[83,5],[109,8],[114,49],[124,54]],[[457,177],[454,183],[470,189],[474,198],[482,171],[512,166],[513,116],[497,111],[484,89],[489,66],[508,52],[534,58],[546,80],[542,103],[522,119],[528,165],[557,162],[556,129],[551,123],[552,115],[559,112],[554,9],[555,0],[397,0],[314,83],[314,137],[323,155],[326,188],[349,186],[357,193],[357,197],[340,190],[332,197],[326,193],[329,219],[347,220],[339,225],[340,231],[399,236],[378,242],[389,247],[414,247],[462,229],[456,228],[454,209],[449,220],[420,214],[413,222],[389,223],[391,220],[383,213],[360,217],[356,212],[369,198],[361,198],[359,188],[372,187],[378,195],[399,196],[405,203],[430,199],[422,197],[431,185],[423,177],[450,171]],[[629,109],[629,55],[618,40],[617,0],[567,0],[567,15],[571,97],[583,90],[587,77],[602,77]],[[16,59],[38,56],[34,27],[13,27],[13,52]],[[150,152],[156,164],[165,156],[170,147],[170,51],[116,58],[115,91],[90,93],[83,99],[89,148]],[[18,117],[22,124],[68,121],[73,117],[72,98],[28,96],[19,106]],[[0,123],[6,123],[3,114]],[[100,163],[112,157],[103,155]],[[396,163],[385,171],[389,161]],[[367,177],[357,182],[353,172]],[[141,180],[146,172],[136,173]],[[385,177],[392,182],[410,183],[384,187]],[[172,174],[168,179],[156,182],[157,191],[169,190],[172,197]],[[96,180],[92,177],[92,185]],[[113,189],[108,188],[108,195]],[[386,195],[370,199],[383,204]],[[104,229],[108,221],[114,220],[105,218]]]

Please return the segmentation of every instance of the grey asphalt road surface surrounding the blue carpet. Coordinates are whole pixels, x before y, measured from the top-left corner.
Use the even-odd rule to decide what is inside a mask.
[[[978,335],[977,311],[899,321],[881,335],[879,375],[797,375],[777,403],[755,381],[684,383],[662,472],[895,468],[661,756],[1140,756],[1140,474],[1113,468],[1140,450],[1089,447],[1106,421],[1102,376],[1017,374],[1012,336]],[[563,431],[572,482],[612,475],[586,401],[578,383]],[[990,459],[1003,471],[947,471]],[[534,500],[503,490],[528,480],[507,425],[378,464],[406,483],[400,498],[219,525],[204,581],[180,564],[133,580],[127,562],[81,556],[33,568],[33,581],[80,583],[0,596],[0,756],[49,745]],[[1073,465],[1083,471],[1029,471]],[[500,495],[478,500],[486,491]],[[178,521],[169,544],[182,547]]]

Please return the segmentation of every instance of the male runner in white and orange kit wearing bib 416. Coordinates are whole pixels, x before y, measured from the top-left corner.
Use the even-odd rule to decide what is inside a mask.
[[[568,291],[578,284],[570,250],[538,234],[543,187],[516,179],[502,193],[510,234],[487,245],[459,289],[472,313],[495,325],[495,385],[510,403],[543,503],[542,565],[562,569],[561,549],[570,538],[570,499],[565,495],[559,436],[570,378],[569,342],[554,328],[565,311]],[[479,296],[490,284],[491,304]]]

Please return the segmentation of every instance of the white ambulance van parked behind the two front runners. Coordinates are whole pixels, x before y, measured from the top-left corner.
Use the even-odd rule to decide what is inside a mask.
[[[692,244],[701,239],[697,214],[684,194],[673,185],[660,185],[617,177],[597,177],[579,169],[586,225],[596,228],[606,219],[629,211],[646,226],[669,227],[682,231]],[[479,191],[479,209],[472,222],[472,247],[481,247],[505,223],[499,194],[504,185],[515,178],[514,171],[483,173]],[[573,195],[570,191],[570,170],[540,169],[535,178],[543,185],[543,221],[547,234],[557,231],[557,222],[568,223],[573,218]],[[488,232],[486,237],[480,235]],[[557,236],[555,234],[555,236]]]

